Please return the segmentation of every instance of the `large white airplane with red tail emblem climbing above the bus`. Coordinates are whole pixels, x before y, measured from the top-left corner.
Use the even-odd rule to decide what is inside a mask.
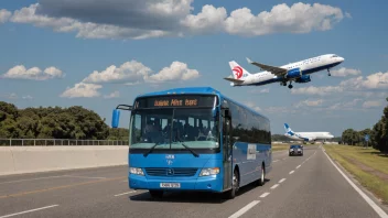
[[[345,58],[335,54],[325,54],[280,67],[252,62],[248,57],[247,61],[249,64],[260,67],[263,72],[250,74],[235,61],[231,61],[229,66],[233,76],[224,78],[231,81],[230,86],[262,86],[278,81],[280,85],[287,86],[287,83],[290,81],[289,88],[291,89],[293,87],[292,81],[298,84],[311,81],[309,74],[326,69],[328,76],[331,76],[330,69],[343,63]]]

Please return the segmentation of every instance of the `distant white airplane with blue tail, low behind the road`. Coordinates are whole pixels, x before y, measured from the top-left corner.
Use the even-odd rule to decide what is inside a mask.
[[[315,142],[316,140],[326,140],[333,139],[334,135],[330,132],[294,132],[291,130],[290,126],[284,123],[285,133],[284,135],[303,142]]]

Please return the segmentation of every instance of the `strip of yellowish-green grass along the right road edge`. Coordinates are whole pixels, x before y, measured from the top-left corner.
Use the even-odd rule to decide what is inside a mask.
[[[388,204],[388,156],[374,149],[324,145],[326,153],[367,189]]]

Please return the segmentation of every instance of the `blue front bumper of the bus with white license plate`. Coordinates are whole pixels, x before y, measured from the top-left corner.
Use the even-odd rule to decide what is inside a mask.
[[[223,178],[220,175],[211,175],[193,178],[177,177],[152,177],[130,174],[129,187],[132,189],[163,189],[163,190],[201,190],[223,192]]]

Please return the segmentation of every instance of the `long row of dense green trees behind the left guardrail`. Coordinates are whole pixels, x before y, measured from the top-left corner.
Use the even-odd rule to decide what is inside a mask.
[[[18,109],[0,101],[0,139],[128,140],[128,129],[109,128],[80,106]]]

